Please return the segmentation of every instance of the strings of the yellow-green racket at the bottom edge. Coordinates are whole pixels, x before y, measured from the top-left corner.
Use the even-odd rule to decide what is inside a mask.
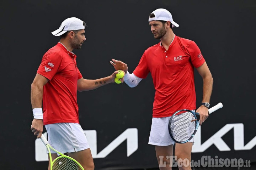
[[[67,157],[59,157],[54,160],[53,170],[82,170],[74,160]]]

